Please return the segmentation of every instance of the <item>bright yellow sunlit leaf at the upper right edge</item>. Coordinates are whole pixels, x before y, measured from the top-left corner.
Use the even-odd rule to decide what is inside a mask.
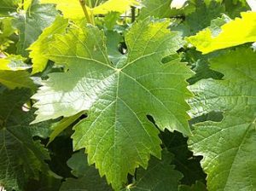
[[[221,30],[222,32],[218,36],[212,37],[211,30],[207,28],[187,40],[203,54],[242,43],[255,42],[256,12],[241,13],[241,18],[236,18],[236,20],[221,26]]]

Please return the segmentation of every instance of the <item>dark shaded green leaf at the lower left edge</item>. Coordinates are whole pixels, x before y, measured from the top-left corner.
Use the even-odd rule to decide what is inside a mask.
[[[30,90],[3,90],[0,94],[0,185],[7,190],[23,190],[28,178],[47,172],[44,159],[49,155],[39,142],[32,141],[28,128],[31,113],[22,105],[31,96]]]

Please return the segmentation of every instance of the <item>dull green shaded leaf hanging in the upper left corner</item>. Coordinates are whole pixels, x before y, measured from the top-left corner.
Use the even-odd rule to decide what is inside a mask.
[[[26,12],[20,10],[15,14],[14,25],[19,31],[20,38],[16,44],[17,54],[27,56],[27,48],[38,39],[44,28],[50,26],[56,15],[54,5],[38,4],[38,0],[34,0]]]

